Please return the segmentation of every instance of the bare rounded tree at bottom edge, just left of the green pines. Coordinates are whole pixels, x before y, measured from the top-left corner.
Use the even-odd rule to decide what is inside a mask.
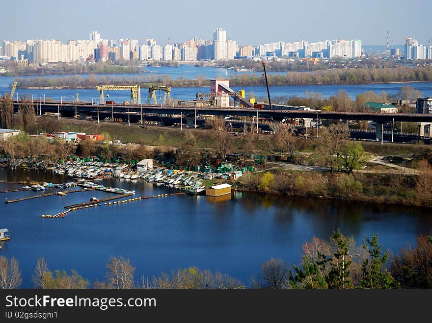
[[[281,289],[288,287],[289,267],[282,259],[271,258],[261,264],[258,278],[252,277],[251,285],[255,288]]]

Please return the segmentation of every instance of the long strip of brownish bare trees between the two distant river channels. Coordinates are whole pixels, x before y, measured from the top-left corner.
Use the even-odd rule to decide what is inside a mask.
[[[265,79],[260,74],[236,74],[229,77],[230,86],[265,86]],[[141,87],[149,85],[163,85],[170,87],[201,87],[210,86],[210,81],[202,75],[195,78],[177,78],[169,75],[147,74],[134,77],[105,75],[96,78],[64,76],[64,77],[28,77],[16,78],[18,88],[46,88],[61,89],[91,89],[98,85],[125,85],[135,83]],[[282,85],[358,85],[393,82],[430,82],[432,80],[432,66],[394,67],[394,68],[364,68],[346,70],[320,70],[311,73],[287,72],[286,74],[269,74],[268,82],[271,86]]]

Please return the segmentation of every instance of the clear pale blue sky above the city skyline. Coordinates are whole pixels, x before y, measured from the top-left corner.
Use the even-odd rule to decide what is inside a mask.
[[[212,39],[222,27],[237,44],[274,41],[361,39],[390,45],[413,37],[432,39],[430,0],[5,0],[0,5],[0,40],[153,37],[158,44],[193,36]]]

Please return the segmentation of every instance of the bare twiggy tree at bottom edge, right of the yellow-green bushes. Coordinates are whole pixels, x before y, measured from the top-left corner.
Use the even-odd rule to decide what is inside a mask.
[[[107,280],[105,282],[96,282],[95,287],[111,289],[131,289],[135,287],[135,267],[131,265],[129,259],[111,256],[107,263],[107,269],[108,272],[105,275]]]

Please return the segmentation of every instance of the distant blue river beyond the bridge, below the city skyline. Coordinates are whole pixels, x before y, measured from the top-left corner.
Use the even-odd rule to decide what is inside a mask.
[[[261,75],[262,72],[236,72],[234,70],[225,70],[221,68],[213,68],[213,67],[196,67],[192,65],[181,65],[180,67],[146,67],[146,73],[140,74],[101,74],[96,75],[96,77],[108,76],[108,77],[120,77],[120,78],[130,78],[131,83],[133,84],[133,80],[137,77],[143,75],[157,75],[163,76],[168,75],[173,79],[177,79],[180,76],[184,78],[196,78],[201,75],[205,79],[210,78],[229,78],[232,75],[238,75],[242,73],[246,74],[258,74]],[[228,73],[226,75],[225,73]],[[286,72],[269,72],[269,74],[286,74]],[[69,76],[69,75],[66,75]],[[79,75],[80,77],[87,77],[88,75]],[[63,75],[45,75],[45,76],[21,76],[23,78],[26,77],[64,77]],[[15,77],[0,77],[0,93],[3,95],[4,93],[9,93],[11,88],[10,85],[14,82]],[[339,90],[345,90],[352,99],[355,99],[357,94],[363,93],[366,91],[374,91],[376,93],[381,93],[385,91],[388,95],[396,95],[402,86],[410,85],[416,89],[418,89],[422,96],[424,97],[432,97],[432,82],[414,82],[414,83],[387,83],[387,84],[360,84],[360,85],[296,85],[296,86],[270,86],[270,96],[271,98],[281,97],[281,96],[304,96],[306,91],[309,92],[317,92],[322,95],[323,98],[328,98],[332,95],[336,95]],[[241,89],[240,87],[232,87],[234,90],[238,91]],[[246,96],[252,95],[260,100],[262,98],[267,98],[267,89],[265,86],[246,86],[242,87],[246,91]],[[196,93],[207,93],[210,92],[210,88],[208,87],[190,87],[190,88],[172,88],[171,89],[171,97],[173,99],[178,100],[190,100],[196,98]],[[44,89],[17,89],[17,92],[14,95],[14,98],[18,96],[21,97],[22,94],[26,94],[27,97],[33,96],[33,99],[39,98],[52,98],[54,100],[67,100],[73,101],[76,93],[79,93],[79,98],[82,101],[99,101],[99,92],[94,89],[85,89],[85,90],[44,90]],[[105,94],[108,94],[105,93]],[[161,97],[163,97],[163,93],[157,93],[158,102],[161,102]],[[115,102],[123,102],[124,100],[130,99],[130,93],[128,91],[110,91],[109,92],[109,100],[113,100]],[[147,93],[145,89],[141,91],[141,102],[147,102]]]

